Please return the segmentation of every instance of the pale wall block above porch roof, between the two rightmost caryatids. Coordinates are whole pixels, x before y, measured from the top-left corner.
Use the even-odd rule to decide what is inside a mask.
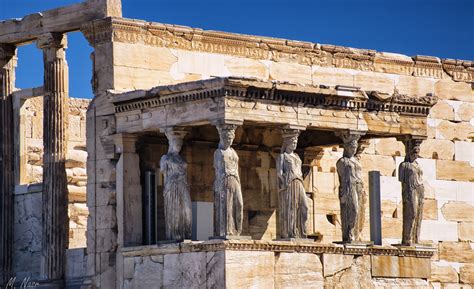
[[[375,90],[393,94],[397,78],[398,76],[391,74],[362,71],[354,75],[354,86],[366,91]]]

